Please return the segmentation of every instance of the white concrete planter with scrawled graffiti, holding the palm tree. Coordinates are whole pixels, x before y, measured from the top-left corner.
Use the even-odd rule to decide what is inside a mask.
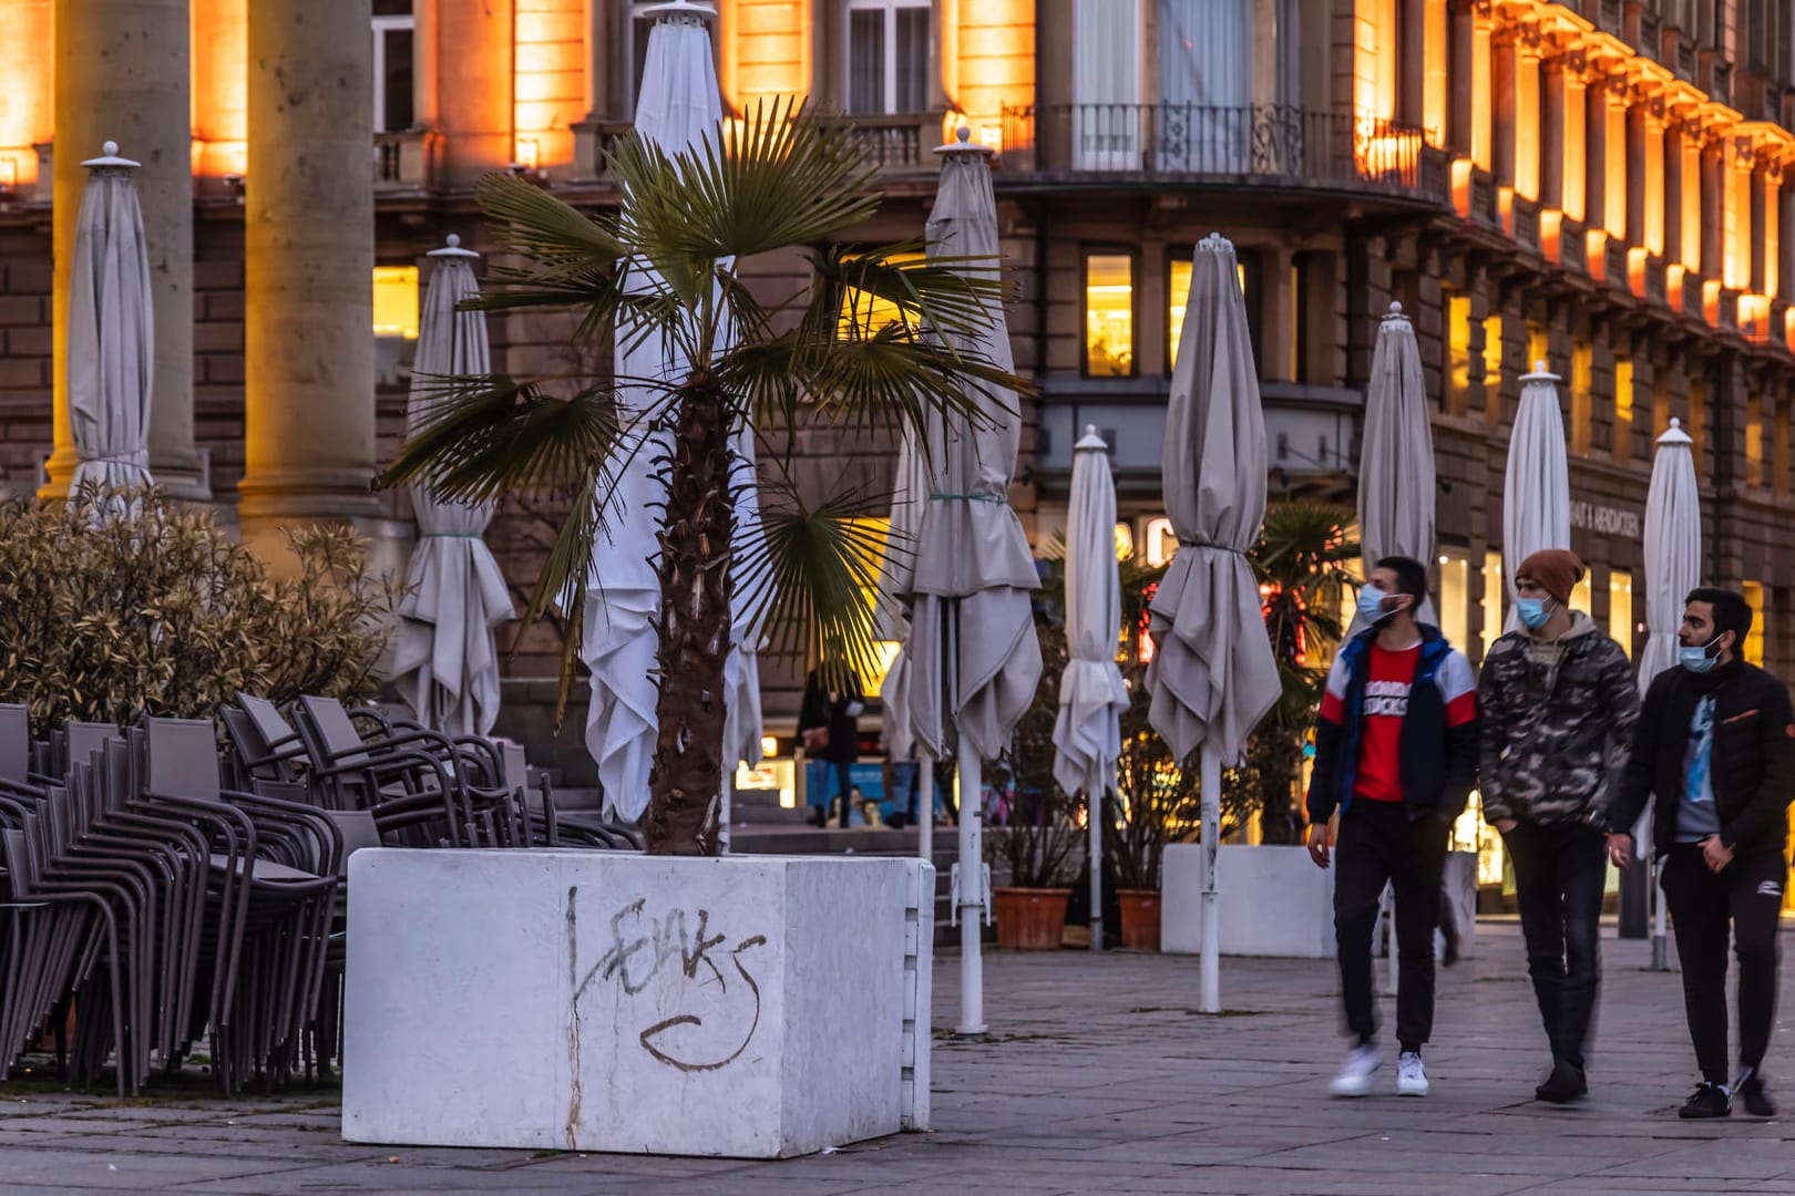
[[[926,1128],[933,891],[914,859],[357,852],[343,1137],[784,1158]]]

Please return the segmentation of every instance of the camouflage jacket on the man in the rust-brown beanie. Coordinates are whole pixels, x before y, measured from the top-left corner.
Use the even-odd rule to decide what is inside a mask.
[[[1601,823],[1633,748],[1639,681],[1621,646],[1572,613],[1556,644],[1510,631],[1477,680],[1484,821]]]

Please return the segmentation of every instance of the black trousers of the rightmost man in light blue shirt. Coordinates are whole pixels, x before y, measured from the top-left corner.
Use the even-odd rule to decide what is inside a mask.
[[[1689,1040],[1709,1083],[1729,1083],[1729,922],[1739,956],[1739,1063],[1756,1069],[1764,1062],[1777,1020],[1777,929],[1786,880],[1782,852],[1736,857],[1718,875],[1707,870],[1694,843],[1678,843],[1664,861],[1664,900],[1677,923]]]

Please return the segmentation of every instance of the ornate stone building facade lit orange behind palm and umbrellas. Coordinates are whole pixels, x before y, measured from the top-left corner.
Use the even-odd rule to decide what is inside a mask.
[[[1474,660],[1502,619],[1508,429],[1544,360],[1563,378],[1594,617],[1642,642],[1653,439],[1680,420],[1705,574],[1747,590],[1750,651],[1795,672],[1788,4],[718,7],[727,109],[802,95],[854,122],[887,188],[869,244],[921,237],[930,151],[953,129],[998,151],[1011,335],[1039,384],[1012,498],[1038,542],[1063,525],[1072,446],[1095,423],[1136,550],[1170,549],[1163,405],[1192,247],[1222,231],[1274,498],[1352,500],[1377,321],[1395,301],[1413,317],[1440,455],[1438,606]],[[66,486],[57,264],[79,161],[113,138],[144,161],[154,473],[251,542],[348,518],[397,559],[407,507],[366,481],[400,430],[424,255],[451,231],[485,247],[472,185],[488,170],[614,201],[603,149],[628,127],[653,20],[639,0],[0,0],[5,481]],[[492,332],[510,373],[576,351],[540,316]],[[811,484],[889,481],[890,445],[801,434]],[[494,525],[519,585],[544,515],[515,504]],[[530,712],[556,631],[519,647],[506,701]],[[766,687],[770,730],[788,732],[795,681],[768,669]]]

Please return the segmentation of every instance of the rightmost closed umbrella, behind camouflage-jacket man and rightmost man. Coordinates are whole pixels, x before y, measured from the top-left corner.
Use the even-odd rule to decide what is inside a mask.
[[[1694,481],[1694,441],[1682,430],[1682,420],[1659,438],[1651,459],[1651,490],[1646,491],[1646,651],[1639,658],[1639,692],[1651,680],[1677,667],[1677,629],[1682,626],[1684,599],[1702,585],[1702,491]],[[1650,827],[1651,812],[1641,818]],[[1641,830],[1641,843],[1651,836]],[[1653,862],[1657,870],[1657,862]],[[1651,886],[1651,966],[1668,968],[1664,940],[1664,895]],[[1633,909],[1639,909],[1633,906]]]

